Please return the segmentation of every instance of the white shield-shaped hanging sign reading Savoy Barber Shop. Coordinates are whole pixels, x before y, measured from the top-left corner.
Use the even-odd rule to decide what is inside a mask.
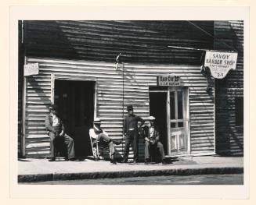
[[[237,53],[206,51],[204,67],[209,67],[211,76],[222,79],[230,69],[236,69]]]

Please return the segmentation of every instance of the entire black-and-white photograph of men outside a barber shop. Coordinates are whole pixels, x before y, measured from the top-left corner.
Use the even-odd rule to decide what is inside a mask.
[[[18,186],[244,186],[245,25],[16,19]]]

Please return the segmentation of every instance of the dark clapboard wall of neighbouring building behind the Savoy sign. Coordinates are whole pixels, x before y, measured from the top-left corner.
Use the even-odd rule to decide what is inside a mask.
[[[243,21],[215,22],[215,49],[238,52],[236,70],[224,80],[215,80],[216,151],[223,155],[243,155],[243,126],[236,126],[235,97],[243,97]]]

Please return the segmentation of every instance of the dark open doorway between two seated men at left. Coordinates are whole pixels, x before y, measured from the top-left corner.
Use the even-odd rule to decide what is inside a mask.
[[[54,101],[66,133],[74,139],[76,157],[92,155],[88,129],[92,127],[94,117],[95,86],[93,81],[55,81]]]

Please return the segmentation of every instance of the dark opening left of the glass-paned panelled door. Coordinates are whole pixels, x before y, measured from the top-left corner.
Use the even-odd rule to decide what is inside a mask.
[[[168,150],[168,131],[167,131],[167,93],[150,92],[150,115],[156,118],[156,125],[160,132],[160,142],[164,145],[164,152]]]

